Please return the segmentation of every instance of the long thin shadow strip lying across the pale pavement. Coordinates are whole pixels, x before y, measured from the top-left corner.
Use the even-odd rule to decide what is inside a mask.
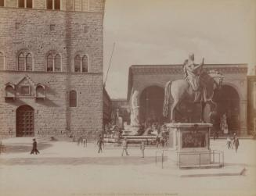
[[[155,162],[154,156],[149,156],[145,158],[140,157],[45,157],[40,158],[40,155],[31,155],[33,158],[12,158],[12,159],[0,159],[0,164],[5,166],[14,166],[14,165],[45,165],[45,166],[56,166],[56,165],[71,165],[71,166],[80,166],[80,165],[109,165],[109,166],[119,166],[119,165],[145,165]],[[164,162],[167,161],[167,157],[164,157]],[[160,164],[160,162],[158,162]]]

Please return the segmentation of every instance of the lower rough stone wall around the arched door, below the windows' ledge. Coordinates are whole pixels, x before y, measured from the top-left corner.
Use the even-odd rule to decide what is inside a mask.
[[[21,80],[31,78],[34,84],[45,84],[45,100],[31,96],[5,100],[5,85],[0,90],[0,137],[16,137],[16,109],[30,105],[34,109],[35,136],[59,134],[96,135],[102,130],[102,75],[86,73],[0,73],[0,84],[13,81],[18,87]],[[68,86],[67,86],[68,84]],[[78,106],[69,107],[69,92],[77,91]],[[66,93],[67,92],[67,93]]]

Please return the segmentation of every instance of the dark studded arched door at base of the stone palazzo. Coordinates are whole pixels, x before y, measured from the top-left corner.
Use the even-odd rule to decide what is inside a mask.
[[[16,110],[16,137],[34,137],[34,109],[29,105]]]

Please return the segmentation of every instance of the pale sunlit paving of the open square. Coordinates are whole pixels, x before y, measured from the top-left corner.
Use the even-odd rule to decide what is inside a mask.
[[[225,152],[225,167],[242,166],[242,176],[179,177],[179,169],[164,158],[155,164],[156,148],[95,144],[83,148],[72,142],[38,141],[39,155],[30,155],[31,138],[4,140],[0,155],[0,195],[256,195],[256,141],[240,140],[236,153],[225,140],[211,141],[211,149]],[[168,153],[168,152],[167,152]],[[182,171],[184,172],[184,171]]]

